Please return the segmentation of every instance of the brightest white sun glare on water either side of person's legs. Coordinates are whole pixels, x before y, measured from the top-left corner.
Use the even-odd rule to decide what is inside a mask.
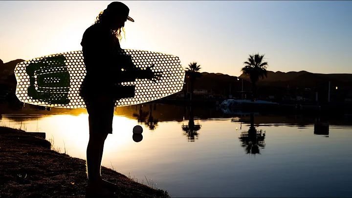
[[[89,140],[87,113],[74,116],[74,119],[72,115],[57,115],[51,118],[48,117],[47,121],[43,122],[42,127],[52,128],[56,131],[53,137],[55,147],[61,148],[61,151],[64,151],[64,147],[66,147],[69,155],[85,155]],[[105,141],[104,150],[118,150],[131,144],[132,128],[136,124],[135,120],[114,115],[112,123],[113,131]],[[46,139],[50,138],[47,137]],[[63,140],[65,141],[65,146],[63,145]]]

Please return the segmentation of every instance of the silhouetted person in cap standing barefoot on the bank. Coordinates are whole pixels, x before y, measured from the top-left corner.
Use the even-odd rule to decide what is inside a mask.
[[[87,74],[80,96],[84,99],[89,114],[87,196],[112,196],[114,193],[111,191],[117,190],[115,184],[101,178],[100,168],[104,142],[108,134],[112,133],[115,102],[134,96],[134,87],[122,88],[120,83],[134,81],[136,78],[155,77],[150,68],[138,70],[131,57],[118,54],[125,22],[134,22],[128,16],[129,12],[130,9],[124,3],[110,3],[98,15],[95,23],[87,28],[81,42]]]

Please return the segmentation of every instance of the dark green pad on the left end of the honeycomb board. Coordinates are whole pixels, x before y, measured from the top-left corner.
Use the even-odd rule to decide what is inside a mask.
[[[51,104],[68,104],[70,75],[65,60],[64,55],[58,55],[29,64],[28,96]]]

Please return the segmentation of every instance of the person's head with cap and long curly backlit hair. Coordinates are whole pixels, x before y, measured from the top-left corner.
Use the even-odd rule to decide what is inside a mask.
[[[107,25],[116,37],[121,40],[121,29],[125,33],[125,22],[127,20],[134,22],[134,20],[128,16],[129,12],[130,8],[124,3],[118,1],[111,2],[103,12],[100,12],[95,24],[102,23]]]

